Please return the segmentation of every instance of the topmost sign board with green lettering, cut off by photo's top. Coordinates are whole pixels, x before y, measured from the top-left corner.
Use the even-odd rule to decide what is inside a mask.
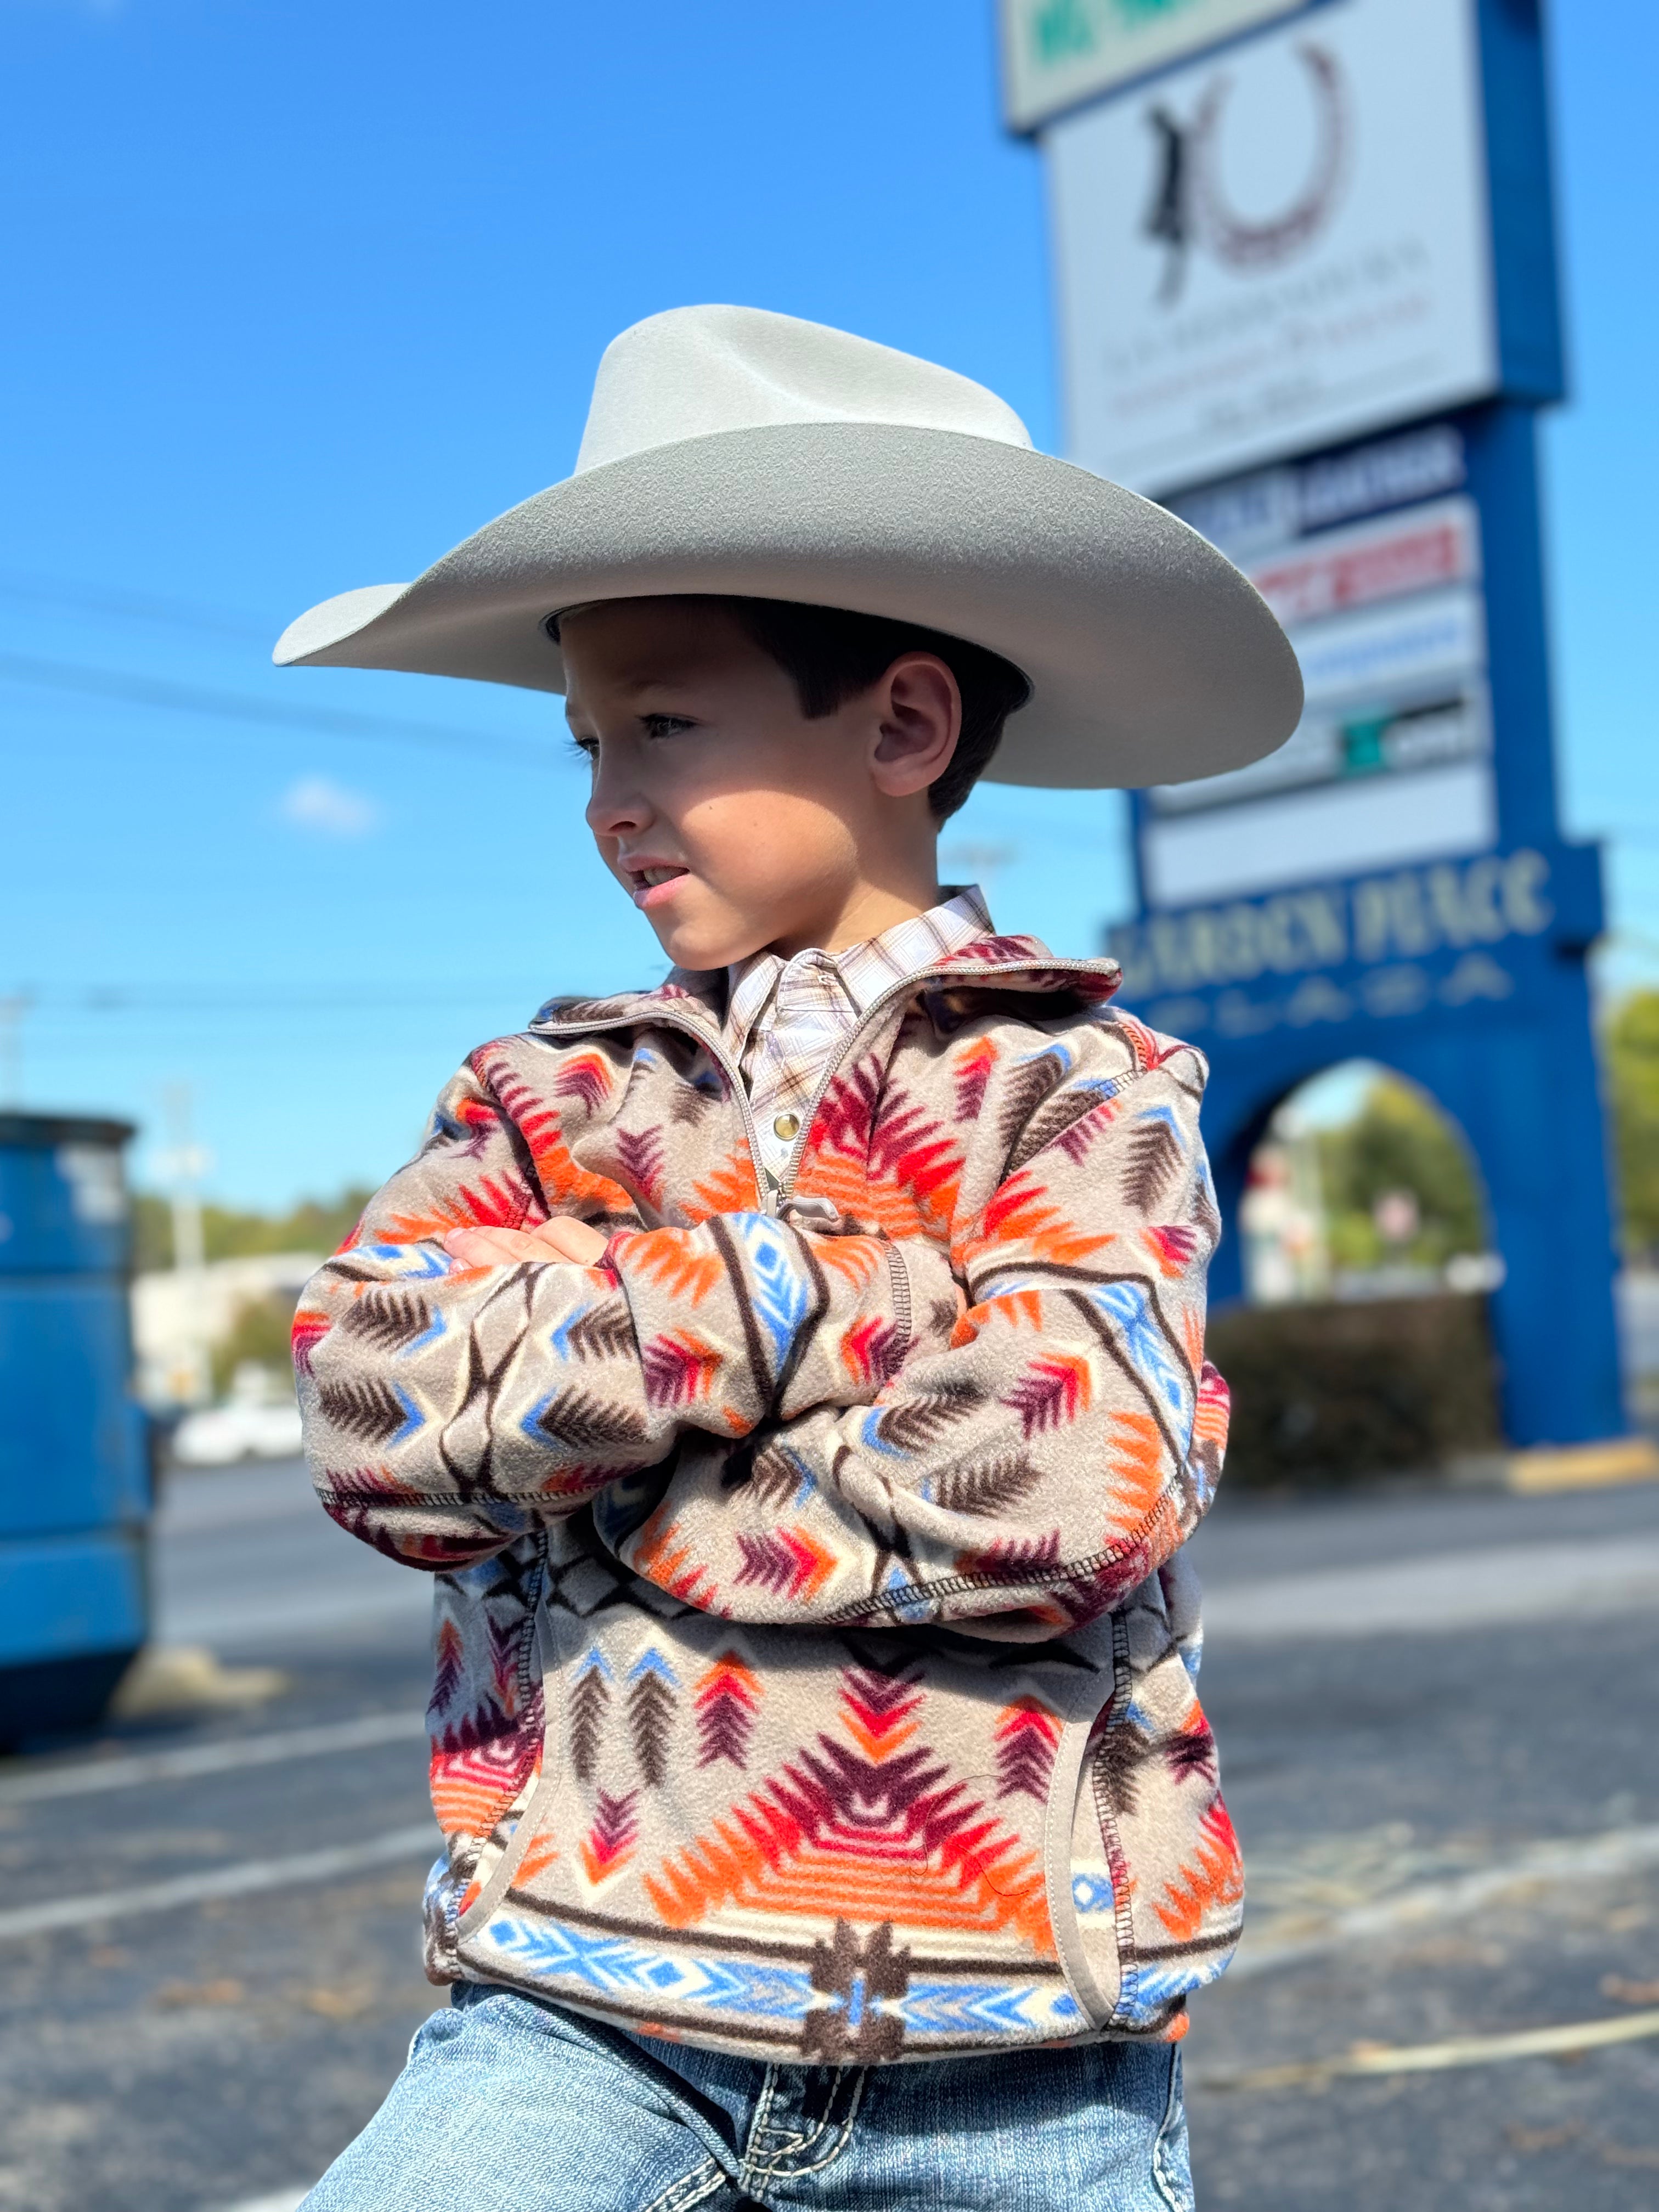
[[[1002,0],[1011,131],[1314,0]]]

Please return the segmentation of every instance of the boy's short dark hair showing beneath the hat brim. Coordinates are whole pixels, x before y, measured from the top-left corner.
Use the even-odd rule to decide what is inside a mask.
[[[1031,697],[1013,661],[964,637],[945,637],[916,622],[854,615],[838,606],[799,606],[794,599],[719,597],[743,633],[792,679],[807,721],[834,714],[847,699],[880,681],[905,653],[933,653],[962,692],[962,734],[951,765],[927,787],[936,821],[956,814],[991,765],[1002,726]]]

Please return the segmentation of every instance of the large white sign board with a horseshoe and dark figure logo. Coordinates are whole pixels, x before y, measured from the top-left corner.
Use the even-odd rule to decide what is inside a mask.
[[[1055,122],[1071,458],[1166,495],[1495,392],[1480,102],[1475,0],[1329,0]]]

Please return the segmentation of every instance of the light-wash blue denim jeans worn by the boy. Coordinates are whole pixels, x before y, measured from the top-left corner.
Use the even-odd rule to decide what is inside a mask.
[[[1170,2044],[765,2066],[462,1984],[301,2212],[1192,2212]]]

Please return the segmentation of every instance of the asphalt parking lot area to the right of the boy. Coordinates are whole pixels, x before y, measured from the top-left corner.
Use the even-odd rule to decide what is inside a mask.
[[[1652,2017],[1500,2055],[1659,2008],[1655,1537],[1659,1486],[1245,1504],[1203,1531],[1250,1933],[1192,2006],[1201,2205],[1659,2203]],[[1332,2070],[1367,2046],[1398,2070]]]

